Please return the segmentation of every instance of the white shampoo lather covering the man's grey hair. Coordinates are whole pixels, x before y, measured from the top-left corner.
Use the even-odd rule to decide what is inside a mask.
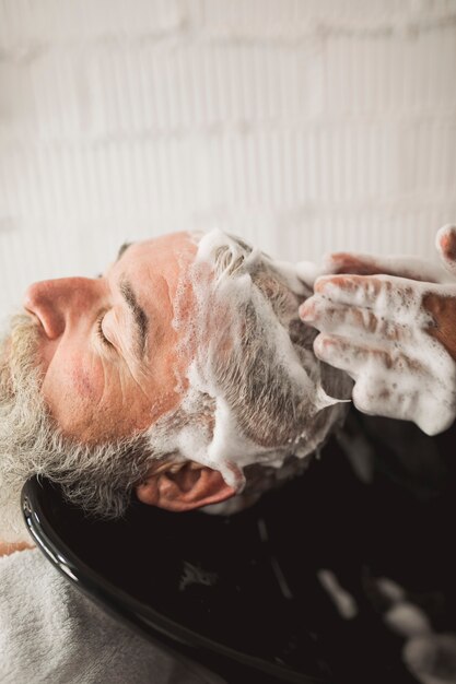
[[[314,452],[344,415],[351,381],[312,351],[316,332],[297,315],[312,291],[299,264],[221,231],[194,239],[174,302],[177,351],[189,363],[176,378],[184,398],[167,447],[241,492],[247,467],[281,469]]]

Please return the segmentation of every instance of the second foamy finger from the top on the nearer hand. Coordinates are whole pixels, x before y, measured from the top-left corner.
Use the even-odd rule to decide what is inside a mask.
[[[397,326],[373,309],[337,304],[320,295],[314,295],[300,307],[302,320],[321,332],[340,337],[375,335],[388,341],[405,340],[408,329]]]

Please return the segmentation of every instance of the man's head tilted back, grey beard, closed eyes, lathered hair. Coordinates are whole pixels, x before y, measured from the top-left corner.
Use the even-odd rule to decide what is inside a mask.
[[[33,285],[0,352],[0,507],[42,473],[98,514],[121,514],[132,491],[188,510],[313,451],[341,415],[321,386],[340,396],[347,381],[313,355],[308,294],[218,232]]]

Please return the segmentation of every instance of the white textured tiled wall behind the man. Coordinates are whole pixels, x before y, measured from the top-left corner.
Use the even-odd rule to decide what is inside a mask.
[[[125,239],[431,256],[456,0],[0,0],[0,318]]]

